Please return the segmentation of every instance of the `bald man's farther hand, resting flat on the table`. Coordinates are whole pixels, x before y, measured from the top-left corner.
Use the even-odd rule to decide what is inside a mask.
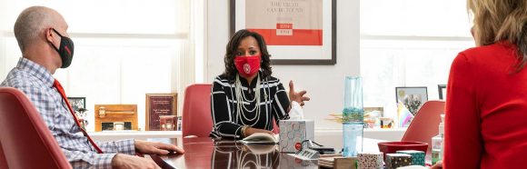
[[[169,154],[170,152],[184,154],[184,150],[173,144],[162,144],[157,142],[146,142],[135,140],[135,153],[140,154]]]

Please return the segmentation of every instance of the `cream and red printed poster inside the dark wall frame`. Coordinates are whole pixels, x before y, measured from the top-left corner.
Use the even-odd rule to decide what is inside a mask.
[[[246,0],[245,27],[267,45],[323,45],[321,0]]]

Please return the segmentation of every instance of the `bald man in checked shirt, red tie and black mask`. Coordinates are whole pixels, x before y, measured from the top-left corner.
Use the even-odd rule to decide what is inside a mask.
[[[132,139],[94,142],[76,124],[64,90],[53,77],[56,69],[67,68],[73,59],[74,43],[67,28],[65,19],[53,9],[25,9],[15,22],[22,58],[0,85],[15,87],[29,97],[70,164],[74,168],[159,168],[134,154],[183,154],[183,149],[170,144]]]

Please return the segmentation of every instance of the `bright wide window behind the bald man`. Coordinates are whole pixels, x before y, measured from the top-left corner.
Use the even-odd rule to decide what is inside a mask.
[[[86,97],[92,123],[87,130],[94,131],[94,104],[137,104],[144,128],[145,94],[181,93],[194,83],[191,3],[0,0],[0,79],[21,57],[13,35],[16,17],[32,5],[51,7],[65,17],[75,42],[72,65],[54,76],[68,96]]]

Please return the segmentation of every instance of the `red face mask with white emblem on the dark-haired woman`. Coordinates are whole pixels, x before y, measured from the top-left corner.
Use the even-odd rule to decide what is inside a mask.
[[[244,77],[251,77],[258,73],[260,69],[260,55],[243,56],[237,55],[234,57],[234,65],[238,69],[238,73]]]

